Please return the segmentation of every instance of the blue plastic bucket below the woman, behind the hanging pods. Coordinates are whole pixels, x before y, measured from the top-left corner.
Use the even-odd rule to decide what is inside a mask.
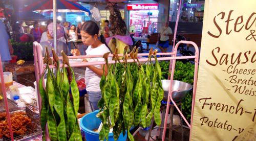
[[[87,141],[99,141],[99,132],[94,132],[94,129],[98,129],[101,123],[101,120],[96,117],[96,114],[99,110],[90,112],[84,115],[80,121],[80,127],[84,131]],[[125,141],[127,138],[127,132],[125,135],[121,133],[117,141]],[[109,133],[109,141],[114,141],[114,134]]]

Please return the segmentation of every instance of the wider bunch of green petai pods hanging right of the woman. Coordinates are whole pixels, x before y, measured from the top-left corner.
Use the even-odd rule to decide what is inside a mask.
[[[129,140],[134,140],[130,133],[131,127],[137,125],[148,127],[153,117],[155,123],[160,126],[160,106],[164,91],[156,53],[157,51],[151,50],[145,70],[134,51],[130,53],[131,58],[125,53],[124,63],[120,63],[119,57],[114,54],[113,60],[116,63],[112,65],[108,63],[108,54],[103,56],[108,74],[106,77],[103,75],[100,81],[102,99],[98,103],[100,110],[96,115],[103,123],[99,132],[101,141],[108,140],[111,128],[115,140],[120,133],[124,135],[125,132]],[[152,55],[155,58],[155,66],[152,63]],[[127,63],[125,61],[127,59],[134,59],[134,62]],[[151,74],[154,74],[153,78]]]

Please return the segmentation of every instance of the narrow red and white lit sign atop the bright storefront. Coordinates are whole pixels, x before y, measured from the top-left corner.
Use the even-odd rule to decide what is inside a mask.
[[[158,4],[128,4],[127,10],[157,10]]]

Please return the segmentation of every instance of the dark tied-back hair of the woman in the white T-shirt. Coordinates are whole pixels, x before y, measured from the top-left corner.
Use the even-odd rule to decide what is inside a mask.
[[[99,35],[99,27],[98,27],[97,23],[92,20],[84,22],[82,24],[81,31],[84,31],[91,36]],[[108,49],[110,50],[109,45],[106,44],[106,41],[105,41],[105,38],[103,35],[100,35],[100,41],[102,43],[104,43],[106,45],[106,47],[108,47]],[[110,52],[112,53],[111,50],[110,50]]]

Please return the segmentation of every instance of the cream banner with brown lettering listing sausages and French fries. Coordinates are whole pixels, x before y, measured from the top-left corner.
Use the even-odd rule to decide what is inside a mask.
[[[205,0],[190,140],[256,139],[255,0]]]

